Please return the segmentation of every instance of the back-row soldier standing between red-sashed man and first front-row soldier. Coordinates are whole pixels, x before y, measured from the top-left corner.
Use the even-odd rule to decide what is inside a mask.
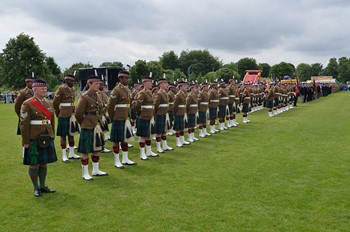
[[[68,162],[69,159],[80,159],[80,156],[74,153],[74,134],[79,133],[79,127],[74,116],[75,93],[73,85],[75,83],[74,75],[66,75],[63,84],[57,89],[53,99],[53,108],[58,117],[57,136],[61,137],[62,161]],[[67,141],[69,144],[69,155],[67,157]]]

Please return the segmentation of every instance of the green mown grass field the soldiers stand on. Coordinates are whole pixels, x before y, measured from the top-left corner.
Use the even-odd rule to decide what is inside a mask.
[[[250,124],[149,161],[134,143],[137,166],[116,169],[102,154],[109,176],[90,182],[80,161],[61,162],[56,138],[47,184],[57,193],[41,198],[22,165],[13,105],[1,103],[0,231],[350,231],[349,99],[255,112]]]

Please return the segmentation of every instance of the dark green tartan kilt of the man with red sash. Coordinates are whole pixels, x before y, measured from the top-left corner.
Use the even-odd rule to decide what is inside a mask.
[[[24,165],[48,164],[56,161],[57,156],[53,139],[50,140],[50,145],[47,148],[40,148],[38,141],[32,139],[29,141],[29,148],[24,150]]]

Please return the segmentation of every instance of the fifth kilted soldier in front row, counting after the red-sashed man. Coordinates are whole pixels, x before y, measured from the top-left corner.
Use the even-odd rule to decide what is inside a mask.
[[[176,131],[176,146],[182,147],[183,145],[190,144],[185,141],[185,113],[186,113],[186,97],[187,97],[187,84],[184,81],[178,82],[179,92],[175,95],[174,99],[174,130]]]

